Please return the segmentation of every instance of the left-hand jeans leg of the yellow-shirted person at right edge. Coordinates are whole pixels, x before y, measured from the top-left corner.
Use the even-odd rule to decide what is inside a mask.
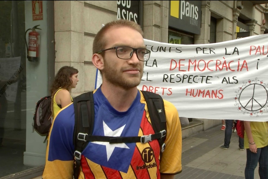
[[[257,149],[257,153],[253,153],[247,148],[247,163],[245,167],[245,179],[253,179],[254,178],[254,170],[257,167],[259,158],[260,158],[261,150]]]

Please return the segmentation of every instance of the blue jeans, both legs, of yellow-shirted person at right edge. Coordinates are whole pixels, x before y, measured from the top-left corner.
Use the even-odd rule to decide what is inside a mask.
[[[259,162],[260,179],[268,178],[268,146],[257,148],[253,153],[247,148],[247,163],[245,167],[245,179],[254,179],[254,170]]]

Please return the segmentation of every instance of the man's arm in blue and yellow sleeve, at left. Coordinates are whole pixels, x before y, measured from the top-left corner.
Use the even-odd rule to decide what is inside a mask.
[[[74,145],[73,105],[68,106],[55,116],[46,151],[46,164],[43,179],[73,179]]]

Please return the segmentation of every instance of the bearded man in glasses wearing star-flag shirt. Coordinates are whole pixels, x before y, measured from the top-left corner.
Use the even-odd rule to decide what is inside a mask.
[[[137,89],[149,57],[143,32],[135,22],[113,21],[96,34],[92,63],[100,70],[103,82],[93,94],[93,135],[154,134],[145,99]],[[167,136],[161,161],[157,140],[145,144],[93,141],[82,152],[79,178],[173,179],[182,171],[182,131],[175,106],[165,100],[164,106]],[[43,179],[73,178],[74,123],[73,104],[53,120]]]

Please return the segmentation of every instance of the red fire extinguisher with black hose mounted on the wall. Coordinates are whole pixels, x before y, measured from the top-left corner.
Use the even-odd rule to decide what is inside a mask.
[[[33,28],[27,29],[25,31],[25,44],[26,44],[26,48],[27,48],[27,59],[30,62],[36,62],[38,61],[39,58],[39,40],[40,40],[40,35],[37,31],[35,31],[36,29],[39,29],[38,26],[34,26]],[[29,49],[28,49],[28,45],[27,45],[27,41],[26,41],[26,35],[27,32],[29,30],[32,30],[29,32],[28,35],[28,43],[29,43]],[[41,29],[39,29],[41,30]]]

